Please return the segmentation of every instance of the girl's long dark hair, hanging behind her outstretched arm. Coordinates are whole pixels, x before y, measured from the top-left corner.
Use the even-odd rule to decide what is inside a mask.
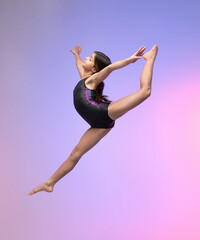
[[[103,68],[111,64],[110,58],[102,52],[95,51],[96,56],[94,60],[94,65],[97,72],[100,72]],[[103,95],[104,82],[101,82],[96,88],[96,98],[97,102],[102,103],[111,103],[112,101],[107,99],[107,95]]]

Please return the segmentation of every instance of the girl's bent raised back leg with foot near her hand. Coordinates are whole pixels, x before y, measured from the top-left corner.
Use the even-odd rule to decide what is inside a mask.
[[[116,120],[120,118],[150,96],[153,65],[157,51],[158,46],[154,45],[153,48],[143,56],[146,60],[146,64],[140,78],[140,90],[109,104],[108,115],[111,119]]]

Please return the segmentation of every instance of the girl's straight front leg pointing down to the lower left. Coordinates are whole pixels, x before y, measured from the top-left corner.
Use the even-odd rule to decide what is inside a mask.
[[[80,139],[79,143],[71,152],[67,160],[58,168],[58,170],[44,183],[34,188],[29,195],[39,191],[52,192],[54,185],[70,172],[78,163],[80,158],[94,147],[112,128],[89,128]]]

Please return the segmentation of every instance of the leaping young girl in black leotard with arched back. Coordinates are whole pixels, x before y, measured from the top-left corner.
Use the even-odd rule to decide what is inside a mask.
[[[115,63],[111,63],[105,54],[97,51],[90,57],[86,57],[83,62],[79,56],[80,46],[70,50],[75,55],[76,66],[81,77],[73,92],[74,106],[91,127],[83,134],[70,156],[58,170],[47,181],[29,192],[29,195],[39,191],[52,192],[54,185],[75,167],[80,158],[110,132],[116,119],[150,96],[153,65],[158,46],[154,45],[149,52],[144,54],[145,49],[146,47],[142,46],[131,57]],[[115,102],[109,101],[107,96],[103,95],[103,81],[112,71],[134,63],[142,56],[146,63],[140,78],[140,89]]]

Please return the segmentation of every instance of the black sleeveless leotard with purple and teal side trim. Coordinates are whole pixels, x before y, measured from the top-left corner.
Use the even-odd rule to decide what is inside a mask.
[[[81,79],[74,88],[74,106],[77,112],[93,128],[114,127],[115,121],[108,116],[109,103],[95,101],[96,90],[86,87],[87,78]]]

